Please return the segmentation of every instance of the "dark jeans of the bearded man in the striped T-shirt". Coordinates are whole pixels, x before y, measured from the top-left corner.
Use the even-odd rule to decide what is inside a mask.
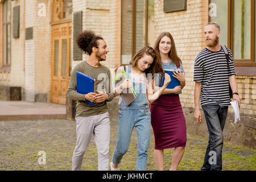
[[[201,171],[222,169],[223,129],[228,114],[228,106],[204,105],[205,120],[209,131],[209,142]]]

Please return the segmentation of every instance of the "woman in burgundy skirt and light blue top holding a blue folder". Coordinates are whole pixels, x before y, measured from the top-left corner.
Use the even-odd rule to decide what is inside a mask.
[[[185,86],[184,69],[177,56],[174,38],[169,32],[159,35],[154,49],[161,57],[163,69],[176,69],[173,76],[180,81],[179,86],[165,89],[158,100],[150,105],[151,125],[155,136],[154,158],[158,170],[163,170],[164,149],[174,148],[170,170],[177,170],[187,141],[185,117],[179,98],[181,89]]]

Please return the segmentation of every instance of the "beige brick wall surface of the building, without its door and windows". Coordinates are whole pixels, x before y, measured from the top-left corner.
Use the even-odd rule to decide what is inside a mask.
[[[38,16],[39,3],[46,4],[44,17]],[[49,96],[52,1],[26,0],[26,13],[23,0],[11,1],[11,5],[12,8],[20,5],[20,36],[11,40],[11,70],[0,71],[0,84],[22,86],[31,101],[36,93],[47,93]],[[93,30],[106,40],[109,53],[102,64],[108,66],[113,73],[121,63],[121,1],[73,0],[73,12],[76,11],[83,11],[83,30]],[[187,10],[174,13],[164,13],[163,0],[155,1],[155,40],[161,32],[170,32],[174,36],[177,53],[185,69],[186,86],[180,96],[183,107],[193,107],[193,64],[196,55],[205,47],[203,29],[207,22],[208,1],[189,0]],[[24,41],[24,26],[34,27],[33,40]],[[73,39],[71,40],[73,44]],[[71,49],[71,54],[72,51]],[[87,58],[87,55],[82,56],[82,60]],[[72,61],[72,68],[80,62]],[[241,114],[255,115],[256,77],[237,76],[237,83],[242,97]],[[233,112],[232,109],[229,111]]]

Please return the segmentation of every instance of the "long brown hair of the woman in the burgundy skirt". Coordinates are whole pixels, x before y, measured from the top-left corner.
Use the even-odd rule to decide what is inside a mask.
[[[156,40],[155,42],[155,46],[154,46],[154,49],[155,49],[155,52],[158,53],[158,55],[160,56],[160,52],[159,52],[159,43],[160,43],[160,40],[164,37],[164,36],[168,36],[168,38],[171,39],[171,50],[170,52],[168,53],[170,59],[172,60],[172,62],[174,64],[179,65],[179,61],[180,60],[180,57],[177,56],[177,51],[176,51],[176,47],[175,47],[175,43],[174,43],[174,38],[172,37],[172,35],[169,33],[169,32],[162,32],[159,36],[158,36],[158,39]]]

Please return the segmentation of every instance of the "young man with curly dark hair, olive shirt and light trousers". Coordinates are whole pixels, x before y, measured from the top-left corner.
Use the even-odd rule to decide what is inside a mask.
[[[114,94],[110,92],[110,70],[101,64],[101,61],[106,60],[109,50],[105,40],[92,31],[81,32],[77,36],[76,43],[83,53],[89,55],[89,58],[73,69],[67,90],[68,98],[77,100],[77,142],[73,152],[72,170],[81,169],[82,158],[92,135],[98,151],[98,170],[109,170],[110,121],[106,102],[112,101]],[[76,72],[94,78],[97,93],[78,93]],[[87,104],[85,100],[94,102],[94,105]]]

